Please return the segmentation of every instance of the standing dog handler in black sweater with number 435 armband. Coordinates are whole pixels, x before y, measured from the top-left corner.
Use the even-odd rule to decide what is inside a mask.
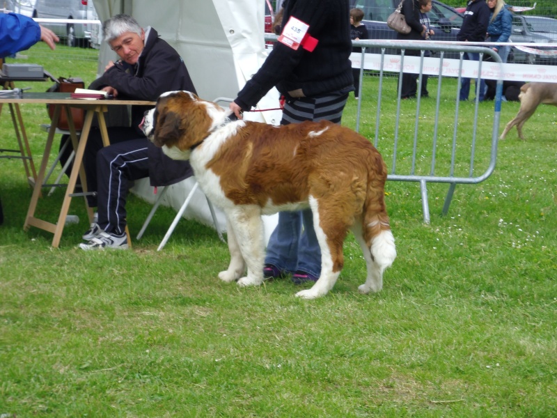
[[[230,110],[241,118],[242,110],[251,109],[276,86],[286,100],[281,125],[340,123],[348,93],[354,90],[349,11],[348,0],[288,0],[278,42],[230,103]],[[292,281],[301,284],[317,281],[320,272],[321,251],[311,210],[280,212],[267,246],[264,276],[292,273]]]

